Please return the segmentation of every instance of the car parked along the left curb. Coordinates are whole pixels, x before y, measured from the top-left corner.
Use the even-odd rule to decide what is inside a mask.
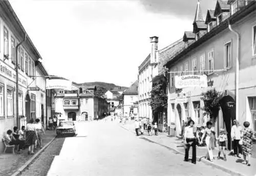
[[[57,135],[70,134],[75,136],[76,126],[73,121],[61,121],[56,129]]]

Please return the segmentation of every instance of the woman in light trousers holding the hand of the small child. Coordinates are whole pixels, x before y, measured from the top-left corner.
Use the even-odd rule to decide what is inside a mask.
[[[213,162],[214,161],[214,155],[212,154],[212,149],[214,149],[214,147],[215,147],[215,131],[214,131],[214,128],[212,127],[212,123],[210,121],[208,121],[206,123],[206,128],[204,130],[204,133],[203,133],[203,136],[201,138],[200,144],[203,143],[203,139],[204,139],[205,135],[206,135],[205,143],[206,143],[206,146],[207,146],[206,157],[211,162]]]

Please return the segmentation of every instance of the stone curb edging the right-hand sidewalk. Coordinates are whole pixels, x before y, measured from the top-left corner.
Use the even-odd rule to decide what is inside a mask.
[[[134,133],[134,134],[135,134],[134,131],[131,131],[130,129],[128,129],[128,128],[124,127],[124,126],[121,126],[121,125],[120,125],[120,127],[122,127],[123,129],[126,129],[127,131],[130,131],[131,133]],[[172,151],[174,151],[174,152],[176,152],[176,153],[179,153],[179,154],[181,154],[181,155],[185,155],[184,152],[181,152],[181,151],[179,151],[179,150],[177,150],[177,149],[175,149],[175,148],[173,148],[173,147],[169,147],[169,146],[160,144],[160,143],[158,143],[158,142],[155,142],[155,141],[153,141],[152,139],[147,138],[147,137],[145,137],[145,136],[141,136],[141,138],[144,138],[144,139],[146,139],[146,140],[148,140],[148,141],[151,141],[151,142],[153,142],[153,143],[155,143],[155,144],[161,145],[162,147],[165,147],[165,148],[167,148],[167,149],[170,149],[170,150],[172,150]],[[219,164],[217,164],[217,163],[212,163],[212,162],[210,162],[210,161],[208,161],[208,160],[206,160],[206,159],[203,159],[203,158],[201,158],[201,157],[197,157],[197,161],[201,161],[202,163],[204,163],[204,164],[206,164],[206,165],[209,165],[209,166],[212,166],[212,167],[216,167],[216,168],[218,168],[218,169],[220,169],[220,170],[223,170],[223,171],[225,171],[225,172],[227,172],[227,173],[230,173],[230,174],[232,174],[232,175],[248,176],[248,175],[245,175],[245,174],[240,173],[240,172],[238,172],[238,171],[230,170],[230,169],[228,169],[228,168],[226,168],[226,167],[224,167],[224,166],[221,166],[221,165],[219,165]]]

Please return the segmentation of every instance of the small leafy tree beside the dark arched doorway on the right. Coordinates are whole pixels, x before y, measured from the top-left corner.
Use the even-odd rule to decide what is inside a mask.
[[[216,118],[220,110],[220,100],[222,99],[222,94],[215,89],[208,90],[201,94],[201,98],[204,101],[204,107],[202,108],[205,113],[204,115],[209,115],[210,119],[216,121]]]

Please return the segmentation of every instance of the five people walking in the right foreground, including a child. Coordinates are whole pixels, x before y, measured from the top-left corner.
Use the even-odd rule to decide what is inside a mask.
[[[240,158],[240,153],[243,155],[244,161],[243,164],[250,166],[250,157],[252,151],[252,140],[253,140],[253,131],[249,128],[250,123],[245,121],[244,128],[242,128],[237,120],[233,121],[234,125],[231,128],[231,140],[233,141],[233,150],[234,155]],[[214,161],[214,156],[212,150],[217,146],[216,140],[219,140],[219,152],[218,159],[221,159],[221,153],[223,153],[224,160],[227,161],[225,148],[227,133],[224,129],[220,129],[220,135],[216,138],[214,127],[212,123],[208,121],[206,123],[206,128],[202,138],[199,139],[197,136],[197,127],[194,126],[195,122],[193,120],[188,121],[188,126],[184,129],[184,147],[185,147],[185,158],[184,161],[188,161],[189,148],[192,147],[192,160],[193,164],[196,164],[196,146],[203,143],[205,138],[206,143],[206,158],[211,162]]]

